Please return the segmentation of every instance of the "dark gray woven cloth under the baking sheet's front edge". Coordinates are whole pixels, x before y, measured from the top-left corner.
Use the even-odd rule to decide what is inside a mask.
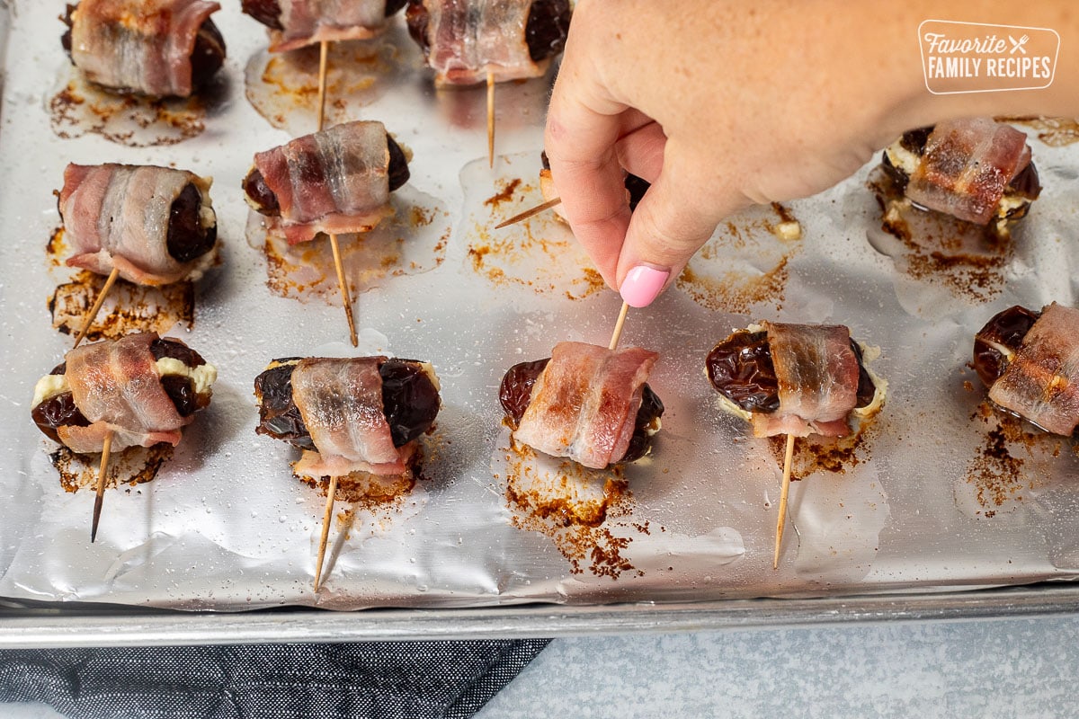
[[[463,719],[548,641],[6,650],[0,702],[71,719]]]

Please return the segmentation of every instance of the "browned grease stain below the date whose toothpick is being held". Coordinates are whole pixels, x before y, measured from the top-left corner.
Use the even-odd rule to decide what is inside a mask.
[[[598,472],[564,460],[559,465],[555,486],[547,483],[541,489],[536,485],[535,456],[531,447],[510,440],[505,456],[507,476],[501,479],[505,481],[513,526],[548,537],[574,575],[588,571],[611,580],[627,573],[643,576],[624,556],[632,537],[612,531],[615,528],[644,535],[651,531],[646,522],[631,523],[624,518],[632,512],[633,495],[622,468]],[[574,497],[574,485],[595,486],[599,482],[602,482],[599,497],[590,496],[587,500]]]

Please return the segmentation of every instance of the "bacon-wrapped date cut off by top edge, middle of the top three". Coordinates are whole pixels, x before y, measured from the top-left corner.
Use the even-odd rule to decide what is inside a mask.
[[[407,0],[243,0],[244,13],[270,28],[270,51],[296,50],[322,41],[365,40],[386,27]]]

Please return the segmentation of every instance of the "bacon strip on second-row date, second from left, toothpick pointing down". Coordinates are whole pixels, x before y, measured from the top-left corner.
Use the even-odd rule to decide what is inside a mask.
[[[289,245],[319,232],[370,232],[390,208],[390,150],[380,122],[357,121],[305,135],[255,155],[277,196],[273,227]]]

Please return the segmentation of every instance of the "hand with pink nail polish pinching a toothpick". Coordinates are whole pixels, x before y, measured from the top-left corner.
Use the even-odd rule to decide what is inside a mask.
[[[644,306],[723,218],[828,189],[906,129],[1032,101],[930,96],[916,28],[933,8],[582,0],[545,149],[564,216],[604,280]],[[632,217],[623,168],[652,182]]]

